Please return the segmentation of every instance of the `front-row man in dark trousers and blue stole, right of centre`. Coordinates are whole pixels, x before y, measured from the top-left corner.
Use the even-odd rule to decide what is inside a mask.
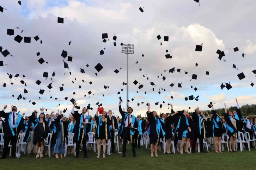
[[[194,135],[193,144],[192,144],[192,153],[196,153],[195,148],[196,148],[197,138],[199,138],[200,152],[206,152],[203,150],[203,138],[205,138],[205,124],[202,117],[203,113],[204,112],[202,111],[200,115],[200,111],[198,107],[195,109],[195,112],[192,113],[193,135]]]

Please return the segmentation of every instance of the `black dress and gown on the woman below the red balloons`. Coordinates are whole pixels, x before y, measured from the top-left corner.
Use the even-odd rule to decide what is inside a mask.
[[[99,117],[97,117],[96,115],[95,115],[95,120],[96,120],[96,122],[97,122],[97,128],[99,128],[99,134],[98,134],[98,129],[96,130],[96,134],[95,134],[95,138],[96,139],[106,139],[106,121],[102,121],[102,125],[101,126],[99,126]],[[110,119],[109,119],[109,117],[107,117],[107,134],[108,134],[108,136],[107,136],[107,139],[106,140],[108,140],[108,139],[111,139],[111,136],[110,136],[110,131],[109,131],[109,126],[112,124],[112,121],[110,121]]]

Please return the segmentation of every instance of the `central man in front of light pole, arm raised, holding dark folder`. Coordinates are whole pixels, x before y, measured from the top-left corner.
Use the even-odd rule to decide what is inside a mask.
[[[134,115],[131,115],[133,112],[133,108],[128,107],[127,112],[124,112],[121,107],[121,102],[122,101],[120,99],[119,112],[122,115],[122,123],[118,131],[118,136],[121,136],[123,138],[123,158],[126,157],[127,140],[130,141],[132,144],[133,157],[136,157],[134,132],[136,131],[136,129],[138,131],[138,124],[137,121],[135,121],[136,117]]]

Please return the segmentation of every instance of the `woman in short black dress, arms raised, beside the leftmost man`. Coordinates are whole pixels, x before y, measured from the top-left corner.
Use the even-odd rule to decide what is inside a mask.
[[[34,138],[33,143],[36,145],[36,158],[38,158],[38,149],[41,147],[40,158],[43,157],[44,151],[44,141],[48,136],[48,123],[45,120],[45,114],[43,112],[44,108],[40,109],[41,113],[39,114],[39,118],[37,118],[37,113],[34,111],[32,115],[29,117],[29,120],[33,122],[34,126]]]

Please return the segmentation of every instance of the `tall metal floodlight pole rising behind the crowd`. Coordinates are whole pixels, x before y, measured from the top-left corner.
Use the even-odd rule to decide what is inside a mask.
[[[127,86],[126,86],[126,110],[129,107],[129,62],[128,62],[128,54],[134,53],[134,44],[123,44],[122,53],[127,54]]]

